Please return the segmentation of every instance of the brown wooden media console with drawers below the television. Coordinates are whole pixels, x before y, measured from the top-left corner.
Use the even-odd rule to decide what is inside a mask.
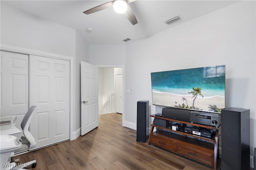
[[[214,130],[215,134],[212,136],[212,138],[207,138],[154,125],[153,122],[151,124],[148,145],[154,144],[163,149],[211,166],[214,170],[216,170],[218,153],[218,127],[168,119],[156,116],[156,114],[150,115],[150,117]],[[154,131],[155,127],[156,131]]]

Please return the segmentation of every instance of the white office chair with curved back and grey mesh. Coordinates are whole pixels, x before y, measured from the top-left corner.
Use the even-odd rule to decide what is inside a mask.
[[[22,152],[24,150],[30,150],[30,149],[33,149],[34,147],[36,147],[36,141],[34,139],[34,137],[31,135],[30,131],[28,131],[28,127],[30,125],[30,121],[32,119],[32,115],[34,113],[34,111],[36,111],[36,109],[38,109],[37,106],[31,106],[26,115],[24,116],[24,118],[22,119],[22,122],[21,122],[21,128],[23,130],[23,135],[21,137],[22,139],[22,146],[19,150],[16,150],[14,151],[14,153],[18,153],[18,152]],[[18,162],[19,159],[15,160],[15,162]],[[35,168],[36,167],[36,160],[32,160],[30,162],[26,162],[26,163],[23,163],[21,165],[24,165],[24,167],[28,166],[28,165],[31,165],[32,164],[32,168]],[[21,168],[24,168],[23,166],[16,166],[14,168],[12,168],[13,170],[15,169],[21,169]]]

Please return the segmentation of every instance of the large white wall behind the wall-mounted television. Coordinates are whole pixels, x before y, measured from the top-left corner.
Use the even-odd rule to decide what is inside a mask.
[[[125,121],[136,123],[136,102],[150,101],[150,72],[226,65],[226,107],[250,109],[256,147],[255,1],[242,1],[127,45]]]

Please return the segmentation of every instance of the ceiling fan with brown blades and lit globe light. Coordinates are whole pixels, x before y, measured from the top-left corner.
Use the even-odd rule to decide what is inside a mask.
[[[126,18],[130,21],[130,23],[132,23],[132,25],[135,25],[136,23],[138,23],[138,21],[134,15],[134,13],[132,12],[132,9],[128,5],[128,3],[134,2],[134,1],[135,0],[112,0],[110,2],[101,4],[94,8],[91,8],[90,10],[84,11],[84,14],[87,14],[87,15],[92,14],[94,12],[105,10],[105,9],[111,8],[111,7],[114,7],[114,10],[116,11],[116,10],[121,9],[121,7],[118,5],[124,5],[124,11],[116,11],[116,12],[120,13],[120,14],[124,14],[126,16]]]

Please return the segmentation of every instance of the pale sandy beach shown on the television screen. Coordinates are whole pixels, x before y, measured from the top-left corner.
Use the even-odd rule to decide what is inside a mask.
[[[170,106],[174,107],[175,105],[178,106],[179,104],[182,105],[183,103],[185,105],[188,104],[188,106],[193,106],[193,100],[192,96],[184,95],[184,96],[178,96],[170,93],[156,93],[152,92],[152,98],[153,101],[158,101],[157,103],[154,103],[155,105],[160,106]],[[182,98],[186,98],[186,101]],[[216,105],[218,108],[225,108],[224,106],[224,100],[225,98],[221,97],[212,97],[212,98],[199,98],[197,97],[194,102],[194,107],[198,107],[199,109],[202,109],[204,111],[210,110],[208,108],[209,105]]]

